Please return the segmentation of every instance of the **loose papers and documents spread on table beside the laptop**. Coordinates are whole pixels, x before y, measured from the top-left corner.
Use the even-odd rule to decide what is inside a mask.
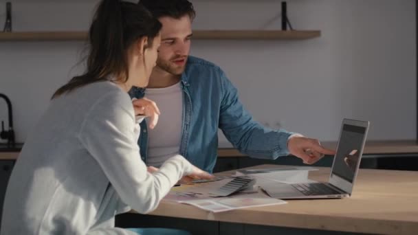
[[[274,190],[280,183],[309,182],[309,170],[317,169],[279,166],[270,169],[239,170],[234,176],[181,184],[172,188],[164,200],[194,205],[210,212],[281,205],[286,202],[269,197],[265,193],[269,194],[269,191]]]

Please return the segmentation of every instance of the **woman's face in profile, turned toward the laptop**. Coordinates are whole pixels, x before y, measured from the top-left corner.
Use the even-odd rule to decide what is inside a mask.
[[[144,75],[142,76],[142,79],[140,82],[141,84],[140,86],[138,85],[138,87],[146,87],[148,85],[149,77],[151,76],[153,68],[156,65],[156,61],[158,57],[158,48],[159,48],[160,43],[161,43],[161,36],[158,34],[153,39],[152,46],[146,47],[146,49],[144,49],[144,59],[143,59],[144,66],[142,67],[144,71]]]

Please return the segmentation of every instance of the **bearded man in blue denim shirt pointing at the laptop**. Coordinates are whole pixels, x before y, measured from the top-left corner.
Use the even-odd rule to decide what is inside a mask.
[[[142,0],[162,23],[162,43],[157,66],[146,89],[131,96],[158,104],[159,124],[148,130],[142,122],[138,144],[148,166],[159,166],[180,154],[199,168],[212,172],[217,158],[220,128],[233,146],[245,155],[276,159],[289,153],[313,164],[333,150],[283,129],[272,130],[255,122],[239,101],[236,88],[213,63],[189,56],[191,23],[195,17],[187,0]]]

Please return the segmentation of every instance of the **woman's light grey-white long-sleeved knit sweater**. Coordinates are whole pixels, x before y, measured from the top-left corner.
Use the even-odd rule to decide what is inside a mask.
[[[52,100],[12,171],[0,234],[131,234],[114,228],[115,214],[154,210],[192,170],[176,155],[148,173],[138,122],[112,82]]]

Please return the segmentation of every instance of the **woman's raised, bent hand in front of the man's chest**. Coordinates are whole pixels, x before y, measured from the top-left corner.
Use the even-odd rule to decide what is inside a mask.
[[[132,105],[135,111],[135,116],[144,115],[146,117],[150,117],[149,128],[153,129],[157,125],[158,117],[161,113],[159,112],[155,102],[148,100],[147,98],[141,98],[132,100]]]

